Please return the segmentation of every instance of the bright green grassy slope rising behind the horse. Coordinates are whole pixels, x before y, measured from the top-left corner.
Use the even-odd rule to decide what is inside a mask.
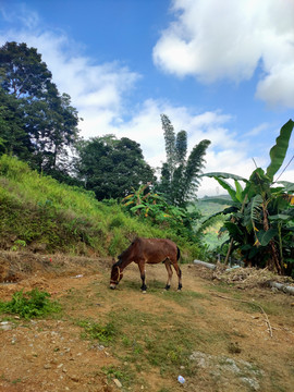
[[[197,257],[197,246],[173,232],[126,216],[117,204],[39,175],[26,163],[0,159],[0,247],[114,256],[136,235],[168,237],[184,258]]]

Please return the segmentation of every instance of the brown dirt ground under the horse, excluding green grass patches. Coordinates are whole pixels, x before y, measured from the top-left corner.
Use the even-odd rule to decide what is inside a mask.
[[[28,271],[20,268],[20,259],[13,264],[11,256],[0,258],[2,278],[10,274],[17,280],[0,285],[0,301],[10,299],[21,289],[38,287],[65,308],[46,320],[0,316],[0,391],[293,391],[293,297],[261,289],[240,292],[242,301],[272,304],[268,315],[271,338],[265,315],[248,311],[236,291],[211,281],[210,272],[200,267],[182,266],[184,289],[179,299],[173,294],[164,296],[159,289],[166,283],[164,266],[147,268],[149,292],[143,295],[136,266],[125,270],[119,290],[110,291],[110,260],[47,258],[40,261],[32,256]],[[172,293],[175,286],[174,277]],[[111,345],[81,339],[76,320],[100,320],[121,309],[150,317],[171,313],[175,321],[166,324],[166,330],[175,328],[177,321],[187,329],[197,328],[200,344],[191,347],[197,377],[180,367],[179,375],[187,373],[181,385],[175,377],[164,378],[154,367],[140,369],[139,384],[124,387],[115,373],[106,373],[106,368],[120,366],[122,359]]]

